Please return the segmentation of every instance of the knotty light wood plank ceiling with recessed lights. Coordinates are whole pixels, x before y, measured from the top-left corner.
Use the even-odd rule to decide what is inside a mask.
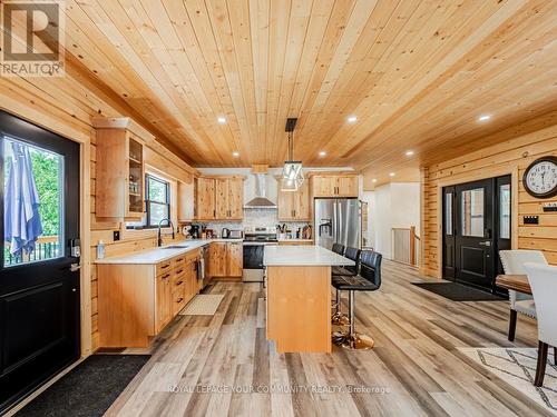
[[[410,172],[557,109],[555,0],[66,0],[66,12],[70,61],[197,167],[278,166],[299,117],[305,165]]]

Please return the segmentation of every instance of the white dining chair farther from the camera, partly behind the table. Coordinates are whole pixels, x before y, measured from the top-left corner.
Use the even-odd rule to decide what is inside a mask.
[[[502,269],[507,275],[526,275],[526,270],[524,269],[526,262],[547,265],[546,257],[541,250],[500,250],[499,257],[501,258]],[[517,328],[517,312],[536,318],[536,306],[530,295],[517,292],[511,289],[509,289],[509,300],[510,319],[508,338],[510,341],[514,341]]]

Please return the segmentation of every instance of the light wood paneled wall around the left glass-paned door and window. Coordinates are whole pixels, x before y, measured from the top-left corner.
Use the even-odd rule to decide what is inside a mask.
[[[96,188],[96,138],[91,126],[91,117],[121,117],[113,103],[101,100],[90,90],[86,89],[70,76],[63,78],[0,78],[0,108],[30,122],[52,130],[69,139],[79,140],[84,145],[84,155],[89,155],[90,178],[88,179],[90,195],[82,199],[82,203],[89,207],[90,218],[87,232],[90,241],[88,249],[81,257],[82,270],[90,271],[90,287],[82,286],[82,292],[90,294],[90,322],[84,322],[84,329],[90,328],[90,338],[85,337],[84,344],[89,345],[84,354],[94,351],[98,347],[97,327],[97,277],[92,261],[96,258],[96,244],[99,239],[106,244],[106,256],[116,256],[156,246],[156,234],[154,230],[134,231],[121,234],[121,240],[115,242],[113,235],[120,230],[119,221],[107,221],[98,219],[95,215],[95,198],[101,190]],[[141,127],[135,126],[134,133],[147,140],[146,162],[167,176],[184,182],[193,180],[192,175],[196,170],[185,162],[180,162],[169,150],[153,140]],[[82,179],[81,183],[85,183]],[[121,231],[121,230],[120,230]],[[82,301],[84,304],[84,301]],[[85,306],[82,306],[84,308]],[[89,309],[89,305],[87,305]],[[87,320],[82,317],[82,320]]]

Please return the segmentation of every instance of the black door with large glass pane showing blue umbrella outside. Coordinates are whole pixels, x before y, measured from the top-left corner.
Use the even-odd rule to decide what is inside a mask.
[[[79,146],[0,111],[0,163],[1,413],[80,356]]]

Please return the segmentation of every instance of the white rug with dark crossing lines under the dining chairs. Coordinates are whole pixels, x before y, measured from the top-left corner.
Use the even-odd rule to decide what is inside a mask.
[[[534,386],[538,349],[534,348],[460,348],[500,379],[511,385],[557,416],[557,366],[549,349],[543,387]]]

